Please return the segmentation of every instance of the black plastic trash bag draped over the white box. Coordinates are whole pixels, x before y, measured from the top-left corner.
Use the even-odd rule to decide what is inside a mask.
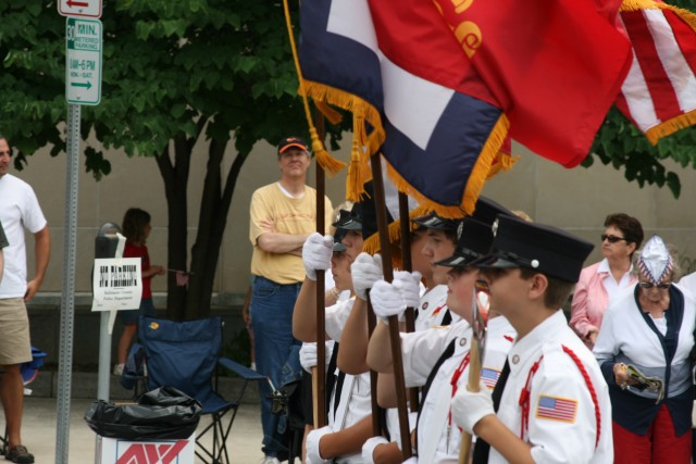
[[[85,422],[98,435],[132,441],[184,439],[198,426],[200,403],[174,387],[144,393],[138,404],[91,403]]]

